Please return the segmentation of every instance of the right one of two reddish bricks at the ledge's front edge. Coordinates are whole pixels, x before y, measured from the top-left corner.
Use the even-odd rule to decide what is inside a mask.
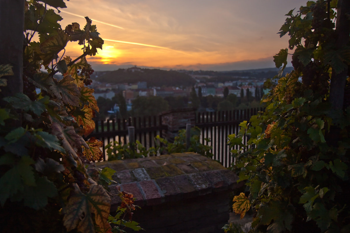
[[[163,202],[164,194],[154,180],[140,181],[139,184],[145,194],[147,205],[156,205]]]

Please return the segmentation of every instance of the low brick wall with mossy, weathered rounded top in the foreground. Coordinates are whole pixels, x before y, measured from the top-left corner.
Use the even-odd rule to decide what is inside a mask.
[[[105,161],[116,170],[111,192],[130,192],[141,207],[133,220],[147,233],[223,232],[228,222],[230,192],[239,187],[235,173],[196,153]],[[112,196],[111,214],[120,199]]]

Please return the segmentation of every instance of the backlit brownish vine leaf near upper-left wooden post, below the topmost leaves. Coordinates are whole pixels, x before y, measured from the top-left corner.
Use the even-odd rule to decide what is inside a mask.
[[[68,41],[69,36],[64,31],[58,30],[55,35],[41,43],[40,50],[42,53],[40,57],[43,60],[43,65],[48,65],[52,60],[58,58],[58,53],[64,49]]]

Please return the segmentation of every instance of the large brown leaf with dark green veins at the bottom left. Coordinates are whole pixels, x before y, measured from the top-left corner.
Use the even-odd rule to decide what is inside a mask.
[[[111,198],[99,184],[91,184],[90,191],[83,194],[75,186],[76,194],[71,196],[64,208],[63,224],[67,231],[77,228],[78,232],[95,233],[95,229],[106,229],[106,221],[110,213]]]

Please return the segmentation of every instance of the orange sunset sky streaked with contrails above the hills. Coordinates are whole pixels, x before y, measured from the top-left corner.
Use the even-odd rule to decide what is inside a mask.
[[[89,16],[105,40],[96,71],[138,67],[245,70],[274,67],[288,37],[276,34],[290,9],[305,0],[70,0],[62,28]],[[68,44],[65,54],[79,56]]]

